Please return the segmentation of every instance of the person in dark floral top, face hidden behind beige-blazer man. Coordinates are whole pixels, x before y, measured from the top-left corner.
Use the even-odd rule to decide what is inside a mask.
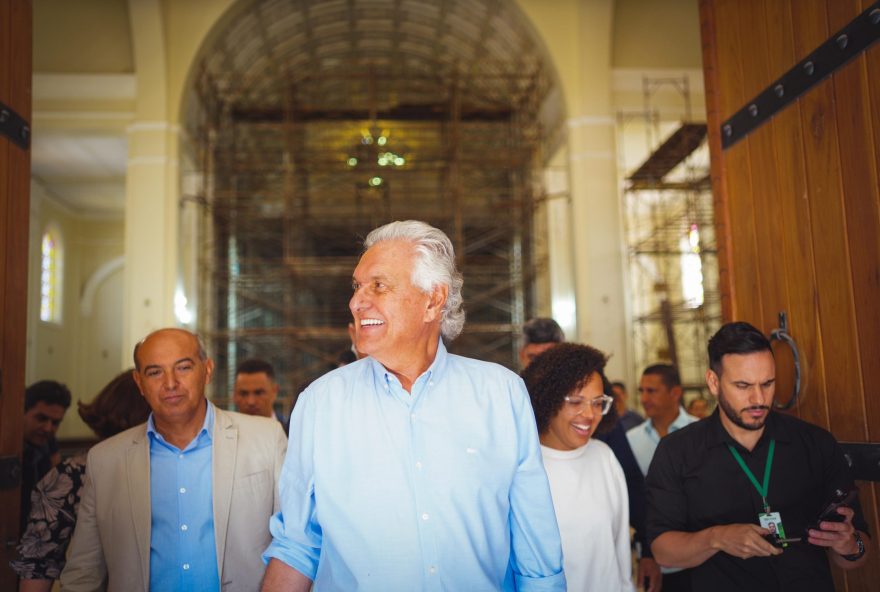
[[[91,403],[78,406],[79,416],[101,440],[144,423],[150,414],[131,370],[111,380]],[[85,472],[86,455],[78,454],[51,469],[31,493],[27,528],[10,562],[21,578],[19,592],[48,592],[61,575]]]

